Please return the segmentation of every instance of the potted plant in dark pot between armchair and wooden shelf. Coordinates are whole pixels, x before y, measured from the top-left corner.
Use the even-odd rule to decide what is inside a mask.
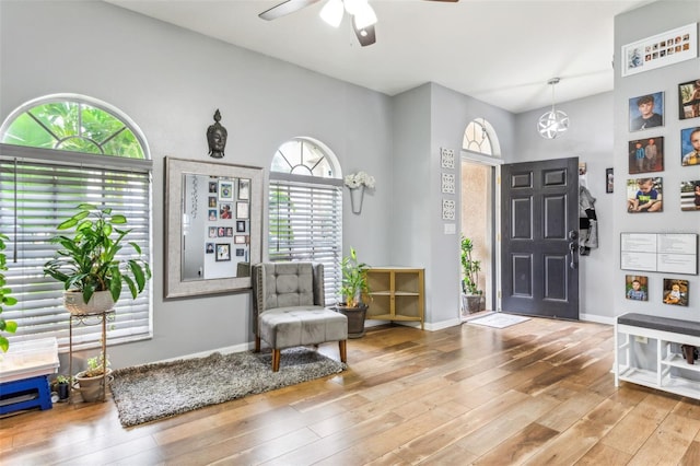
[[[370,292],[366,276],[369,268],[366,264],[358,260],[358,253],[353,247],[350,247],[350,255],[343,257],[340,263],[342,272],[340,295],[345,301],[338,303],[337,310],[348,317],[348,338],[364,336],[368,305],[362,302],[362,296]]]

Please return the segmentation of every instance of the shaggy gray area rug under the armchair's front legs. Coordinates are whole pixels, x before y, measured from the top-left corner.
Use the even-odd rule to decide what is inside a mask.
[[[279,372],[272,354],[214,352],[207,358],[139,365],[114,371],[110,384],[121,426],[163,419],[246,395],[336,374],[342,362],[307,348],[282,350]]]

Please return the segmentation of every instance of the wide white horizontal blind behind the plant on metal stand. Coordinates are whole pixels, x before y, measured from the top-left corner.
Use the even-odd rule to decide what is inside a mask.
[[[10,238],[5,276],[18,299],[3,312],[3,317],[19,325],[10,341],[56,337],[60,347],[68,346],[63,283],[44,276],[43,269],[58,249],[50,242],[59,233],[56,225],[71,217],[79,203],[109,207],[126,215],[130,240],[151,261],[150,177],[150,168],[144,167],[75,166],[0,156],[0,232]],[[124,251],[121,257],[132,253],[130,247]],[[107,323],[109,343],[150,337],[151,284],[136,300],[125,290],[115,311]],[[101,335],[100,325],[73,325],[73,348],[93,347]]]

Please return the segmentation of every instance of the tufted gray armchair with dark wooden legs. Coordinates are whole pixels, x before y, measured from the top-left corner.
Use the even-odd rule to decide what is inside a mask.
[[[338,341],[346,362],[348,319],[325,307],[322,264],[262,263],[252,271],[255,351],[261,340],[270,346],[273,372],[282,349],[327,341]]]

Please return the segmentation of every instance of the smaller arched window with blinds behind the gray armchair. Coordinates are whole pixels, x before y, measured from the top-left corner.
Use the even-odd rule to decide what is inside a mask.
[[[268,256],[324,265],[326,302],[340,289],[342,177],[327,148],[306,138],[284,142],[270,165]]]

